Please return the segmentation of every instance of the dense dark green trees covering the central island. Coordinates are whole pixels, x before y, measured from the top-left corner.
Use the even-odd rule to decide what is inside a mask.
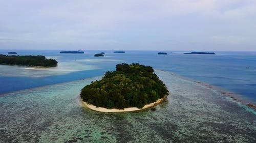
[[[116,71],[107,71],[99,80],[81,90],[81,98],[97,107],[123,109],[142,108],[168,95],[165,84],[151,66],[118,64]]]

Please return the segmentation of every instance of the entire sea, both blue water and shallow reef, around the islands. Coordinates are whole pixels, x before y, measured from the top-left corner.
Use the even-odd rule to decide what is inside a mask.
[[[6,54],[10,50],[0,50]],[[56,68],[0,65],[0,142],[255,142],[256,52],[12,50],[45,55]],[[104,57],[94,57],[105,52]],[[186,51],[184,51],[186,52]],[[80,90],[119,63],[152,66],[169,90],[153,109],[102,113]]]

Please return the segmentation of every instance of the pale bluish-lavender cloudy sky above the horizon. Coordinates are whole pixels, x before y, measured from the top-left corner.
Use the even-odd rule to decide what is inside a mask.
[[[256,1],[0,0],[0,49],[256,51]]]

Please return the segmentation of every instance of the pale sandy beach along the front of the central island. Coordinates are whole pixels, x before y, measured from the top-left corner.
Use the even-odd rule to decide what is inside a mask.
[[[167,96],[165,95],[163,98],[160,98],[158,99],[156,102],[153,102],[153,103],[150,103],[150,104],[147,104],[145,106],[143,106],[142,108],[137,108],[137,107],[129,107],[129,108],[124,108],[124,109],[107,109],[107,108],[104,108],[104,107],[96,107],[92,104],[87,104],[86,102],[84,101],[81,101],[82,102],[82,105],[91,109],[91,110],[94,110],[94,111],[99,111],[99,112],[130,112],[130,111],[138,111],[138,110],[144,110],[144,109],[147,109],[147,108],[150,108],[150,107],[153,107],[153,106],[156,106],[158,105],[159,103],[161,103]]]

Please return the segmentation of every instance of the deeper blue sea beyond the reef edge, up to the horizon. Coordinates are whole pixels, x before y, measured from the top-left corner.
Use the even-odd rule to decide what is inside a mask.
[[[58,61],[57,68],[26,70],[24,66],[0,65],[0,94],[104,74],[118,63],[140,63],[170,71],[198,81],[217,85],[256,103],[256,52],[215,51],[216,55],[181,54],[182,51],[113,51],[84,50],[84,54],[60,54],[60,50],[16,51],[18,55],[45,55]],[[105,56],[95,58],[95,53]],[[185,51],[184,51],[185,52]]]

